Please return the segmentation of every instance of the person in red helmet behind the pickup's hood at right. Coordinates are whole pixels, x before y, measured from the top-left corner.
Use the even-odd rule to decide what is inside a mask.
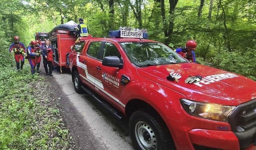
[[[195,55],[195,49],[196,49],[197,43],[194,40],[188,40],[186,42],[185,47],[180,47],[175,49],[177,53],[179,53],[182,57],[188,59],[188,61],[196,63],[196,55]]]

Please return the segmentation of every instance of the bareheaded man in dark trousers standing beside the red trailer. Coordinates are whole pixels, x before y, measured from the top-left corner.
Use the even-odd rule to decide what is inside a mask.
[[[53,61],[53,51],[52,51],[52,45],[49,45],[50,41],[46,40],[43,47],[42,47],[42,55],[43,55],[43,63],[44,63],[44,70],[46,72],[46,75],[53,76],[52,75],[52,61]],[[49,67],[49,72],[48,68]]]

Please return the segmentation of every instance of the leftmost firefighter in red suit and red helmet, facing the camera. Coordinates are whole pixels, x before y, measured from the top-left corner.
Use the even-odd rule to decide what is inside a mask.
[[[10,45],[9,51],[14,53],[17,70],[22,70],[25,60],[24,55],[26,55],[26,47],[20,42],[20,38],[18,36],[14,36],[14,43]]]

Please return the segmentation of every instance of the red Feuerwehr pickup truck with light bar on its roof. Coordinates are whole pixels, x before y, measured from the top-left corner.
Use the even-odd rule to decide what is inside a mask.
[[[129,117],[136,150],[249,150],[256,146],[256,82],[190,63],[145,33],[80,38],[69,53],[77,93]]]

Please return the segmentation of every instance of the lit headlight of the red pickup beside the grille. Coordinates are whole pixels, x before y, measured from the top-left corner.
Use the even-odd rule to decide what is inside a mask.
[[[180,103],[186,112],[193,116],[224,122],[228,122],[228,115],[235,109],[234,106],[201,103],[187,99],[180,99]]]

